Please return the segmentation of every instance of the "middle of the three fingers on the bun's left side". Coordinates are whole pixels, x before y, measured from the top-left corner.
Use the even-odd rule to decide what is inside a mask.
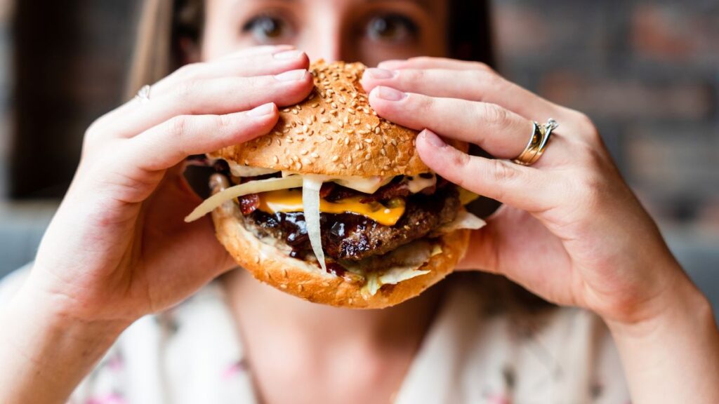
[[[133,137],[173,116],[232,114],[270,102],[279,106],[297,104],[312,88],[312,75],[304,69],[274,76],[188,81],[172,93],[151,96],[147,104],[122,106],[122,112],[127,114],[104,121],[101,128],[111,130],[114,137]]]

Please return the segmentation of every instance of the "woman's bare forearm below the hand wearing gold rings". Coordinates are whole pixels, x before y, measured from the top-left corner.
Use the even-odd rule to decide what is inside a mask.
[[[608,321],[633,403],[719,403],[719,331],[710,303],[688,281],[667,309],[631,325]]]

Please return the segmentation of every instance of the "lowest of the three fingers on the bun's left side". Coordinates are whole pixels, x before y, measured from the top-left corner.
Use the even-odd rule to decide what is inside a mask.
[[[277,123],[275,104],[227,115],[184,115],[128,139],[124,164],[145,171],[167,170],[189,155],[214,152],[267,134]]]

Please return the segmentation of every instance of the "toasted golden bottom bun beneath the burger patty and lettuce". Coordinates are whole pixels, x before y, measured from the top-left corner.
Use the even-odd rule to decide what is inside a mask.
[[[470,231],[466,229],[444,234],[439,238],[441,253],[418,268],[429,273],[396,285],[383,285],[370,295],[362,290],[363,285],[346,282],[322,272],[311,262],[290,257],[289,247],[283,250],[262,242],[242,225],[242,214],[233,201],[216,208],[212,219],[217,239],[257,280],[314,303],[347,308],[385,308],[419,295],[452,272],[470,242]]]

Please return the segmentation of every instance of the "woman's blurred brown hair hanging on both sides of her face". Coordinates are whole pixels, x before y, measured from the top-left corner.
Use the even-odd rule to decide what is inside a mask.
[[[449,0],[449,57],[495,65],[488,0]],[[204,0],[146,0],[139,10],[128,96],[186,64],[188,44],[198,46]]]

